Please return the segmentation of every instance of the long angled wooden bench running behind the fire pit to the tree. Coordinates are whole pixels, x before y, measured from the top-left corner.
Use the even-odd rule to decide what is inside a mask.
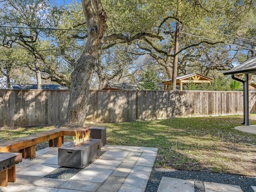
[[[76,129],[81,134],[87,128]],[[36,157],[36,144],[48,141],[49,147],[61,147],[64,143],[64,136],[74,136],[75,129],[53,129],[46,132],[32,134],[29,136],[5,141],[0,143],[0,152],[20,152],[23,158],[33,159]]]

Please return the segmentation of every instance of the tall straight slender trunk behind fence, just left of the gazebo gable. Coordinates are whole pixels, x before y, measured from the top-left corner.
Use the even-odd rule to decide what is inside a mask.
[[[172,89],[176,90],[176,79],[177,79],[177,69],[178,69],[178,54],[180,48],[180,23],[176,22],[175,40],[174,40],[174,54],[172,65]]]

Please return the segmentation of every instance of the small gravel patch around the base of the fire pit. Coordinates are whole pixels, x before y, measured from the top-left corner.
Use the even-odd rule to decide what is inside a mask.
[[[78,169],[78,168],[70,168],[70,167],[59,167],[56,170],[50,172],[45,178],[52,178],[52,179],[70,179],[72,176],[80,172],[82,169],[90,165],[92,162],[94,162],[96,159],[98,159],[102,154],[104,154],[104,151],[100,153],[96,158],[94,158],[91,162],[86,164],[84,167]]]

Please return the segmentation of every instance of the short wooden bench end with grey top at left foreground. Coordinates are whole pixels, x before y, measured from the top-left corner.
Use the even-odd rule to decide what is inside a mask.
[[[21,153],[0,152],[0,186],[6,187],[8,182],[16,181],[15,165],[22,162]]]

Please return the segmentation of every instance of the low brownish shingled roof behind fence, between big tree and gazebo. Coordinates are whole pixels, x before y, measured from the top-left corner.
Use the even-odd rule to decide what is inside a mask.
[[[105,86],[102,88],[102,90],[141,90],[142,89],[142,84],[141,83],[127,83],[127,82],[122,82],[122,83],[110,83],[107,82]]]

